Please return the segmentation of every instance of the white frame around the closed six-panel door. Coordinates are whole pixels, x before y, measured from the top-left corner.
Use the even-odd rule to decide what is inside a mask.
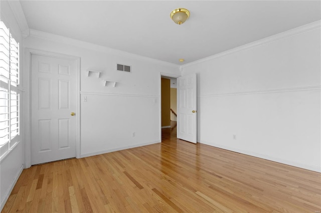
[[[25,106],[22,109],[21,123],[22,125],[22,134],[24,138],[24,148],[25,148],[25,168],[31,166],[31,55],[43,55],[49,57],[57,57],[67,60],[75,61],[76,69],[76,108],[78,110],[78,116],[76,117],[76,158],[80,158],[80,57],[66,55],[56,52],[44,51],[39,49],[26,48],[25,49],[25,58],[24,58],[24,69],[22,73],[22,82],[23,82],[23,105]],[[21,104],[22,105],[22,104]]]

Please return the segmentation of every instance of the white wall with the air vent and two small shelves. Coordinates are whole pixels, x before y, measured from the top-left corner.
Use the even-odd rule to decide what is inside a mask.
[[[160,141],[160,73],[180,75],[178,65],[33,30],[24,44],[81,58],[81,156]],[[132,72],[117,71],[117,63]],[[87,76],[90,68],[103,71],[100,78]],[[116,86],[104,86],[104,79]]]

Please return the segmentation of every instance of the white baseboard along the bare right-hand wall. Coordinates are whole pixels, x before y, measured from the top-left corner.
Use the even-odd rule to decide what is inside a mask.
[[[299,162],[294,162],[294,161],[291,161],[291,160],[281,159],[281,158],[278,158],[278,157],[272,157],[272,156],[268,156],[268,155],[265,155],[265,154],[260,154],[260,153],[256,153],[256,152],[252,152],[252,151],[233,148],[233,147],[229,147],[229,146],[225,146],[225,145],[210,143],[210,142],[203,141],[203,140],[201,140],[200,143],[204,143],[204,144],[207,144],[207,145],[210,145],[210,146],[223,148],[223,149],[230,150],[230,151],[235,151],[235,152],[238,152],[238,153],[241,153],[241,154],[247,154],[247,155],[251,155],[251,156],[254,156],[254,157],[259,157],[259,158],[262,158],[262,159],[267,159],[267,160],[271,160],[271,161],[274,161],[274,162],[279,162],[279,163],[283,163],[283,164],[286,164],[286,165],[291,165],[291,166],[304,168],[304,169],[307,169],[307,170],[316,171],[316,172],[320,172],[321,173],[321,167],[318,167],[318,166],[306,165],[306,164],[299,163]]]

